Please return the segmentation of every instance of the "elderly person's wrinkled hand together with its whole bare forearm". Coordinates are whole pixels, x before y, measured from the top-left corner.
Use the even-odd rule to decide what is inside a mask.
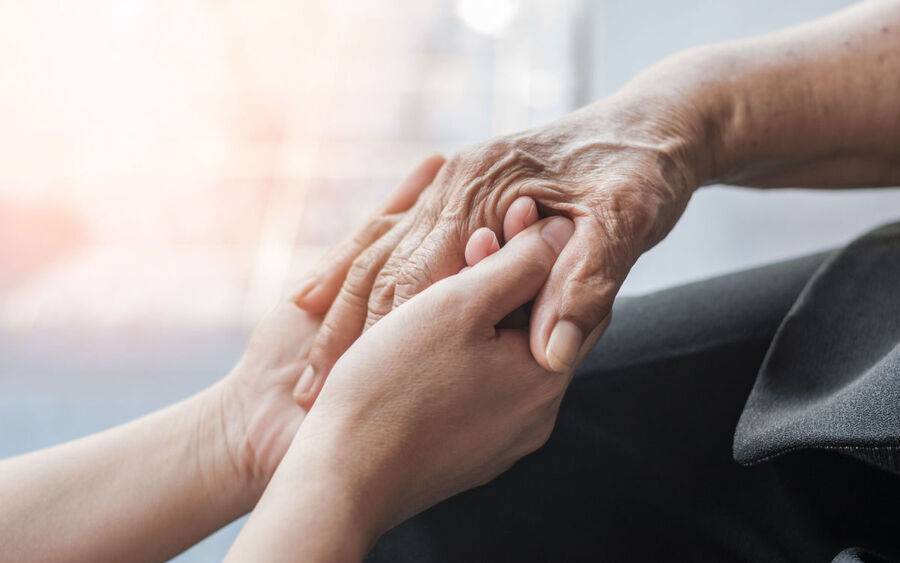
[[[485,226],[501,232],[523,195],[576,226],[531,316],[535,359],[570,368],[599,338],[634,262],[666,236],[698,187],[900,183],[898,77],[900,3],[865,2],[677,54],[548,126],[461,151],[410,214],[359,252],[340,289],[328,291],[354,305],[314,344],[314,377],[323,379],[364,329],[459,271],[469,236]],[[297,302],[328,306],[311,292]],[[314,393],[299,399],[311,404]]]

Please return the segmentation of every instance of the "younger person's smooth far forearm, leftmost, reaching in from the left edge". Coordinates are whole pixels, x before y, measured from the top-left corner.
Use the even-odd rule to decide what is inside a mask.
[[[0,462],[0,544],[16,561],[165,560],[252,507],[234,486],[215,388]]]

